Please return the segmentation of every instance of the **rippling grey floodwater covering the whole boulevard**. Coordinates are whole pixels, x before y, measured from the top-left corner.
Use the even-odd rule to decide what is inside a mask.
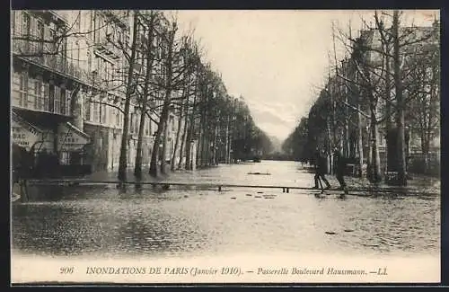
[[[254,175],[248,173],[270,173]],[[220,165],[172,181],[311,187],[295,162]],[[12,207],[12,250],[40,256],[225,256],[233,252],[435,254],[439,196],[329,196],[310,190],[41,189]]]

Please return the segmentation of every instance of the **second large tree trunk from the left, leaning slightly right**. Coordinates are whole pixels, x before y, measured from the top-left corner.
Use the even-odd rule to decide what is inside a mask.
[[[148,102],[148,89],[153,71],[153,58],[152,58],[152,45],[153,45],[153,30],[154,30],[154,18],[155,14],[152,12],[150,16],[148,40],[146,42],[146,72],[145,72],[145,84],[144,92],[142,93],[142,104],[140,108],[140,123],[137,139],[137,153],[136,164],[134,165],[134,175],[137,179],[142,179],[142,145],[145,132],[145,118],[146,118],[146,103]]]

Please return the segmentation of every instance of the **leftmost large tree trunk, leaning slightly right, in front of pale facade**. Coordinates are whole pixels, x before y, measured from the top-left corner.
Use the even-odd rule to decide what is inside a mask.
[[[123,113],[123,132],[121,136],[120,157],[119,157],[119,181],[127,181],[127,155],[128,155],[128,130],[129,130],[129,107],[131,95],[135,92],[133,81],[134,63],[136,58],[136,35],[137,35],[137,13],[134,12],[133,40],[131,44],[131,56],[128,60],[128,83],[125,98],[125,109]]]

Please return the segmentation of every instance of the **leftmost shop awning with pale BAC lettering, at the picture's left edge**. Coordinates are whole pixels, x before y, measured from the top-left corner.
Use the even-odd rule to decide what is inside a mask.
[[[40,129],[13,115],[11,139],[13,143],[30,150],[33,145],[42,140],[42,132]]]

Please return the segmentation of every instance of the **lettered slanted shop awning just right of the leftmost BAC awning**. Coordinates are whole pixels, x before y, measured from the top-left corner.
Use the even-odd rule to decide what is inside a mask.
[[[89,136],[70,123],[57,127],[57,150],[80,151],[89,143]]]

